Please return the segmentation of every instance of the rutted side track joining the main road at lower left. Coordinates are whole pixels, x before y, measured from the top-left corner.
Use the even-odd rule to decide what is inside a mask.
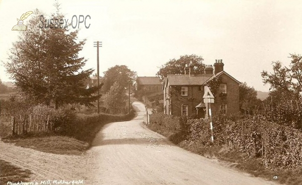
[[[85,184],[92,184],[90,180],[93,175],[89,170],[93,165],[91,163],[92,154],[91,151],[88,151],[85,155],[59,155],[22,148],[12,143],[0,141],[0,159],[23,169],[31,170],[33,174],[29,181],[38,182],[38,184],[42,180],[48,179],[51,181],[83,180]]]

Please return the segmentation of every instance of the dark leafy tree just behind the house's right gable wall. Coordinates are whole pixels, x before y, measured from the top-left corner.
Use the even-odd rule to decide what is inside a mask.
[[[257,98],[257,91],[253,87],[249,87],[246,82],[239,85],[239,104],[240,109],[244,109],[248,113],[262,107],[262,101]]]

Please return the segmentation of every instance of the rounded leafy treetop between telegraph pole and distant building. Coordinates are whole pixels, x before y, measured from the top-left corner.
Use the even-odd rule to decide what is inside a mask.
[[[114,67],[109,68],[107,71],[104,72],[103,81],[103,91],[108,92],[111,86],[118,82],[118,84],[122,88],[128,88],[129,81],[130,84],[134,83],[136,78],[136,72],[131,71],[125,65],[116,65]]]

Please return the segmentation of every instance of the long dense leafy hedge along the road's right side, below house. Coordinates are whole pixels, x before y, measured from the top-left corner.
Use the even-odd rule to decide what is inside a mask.
[[[248,158],[260,158],[270,169],[296,168],[302,165],[302,133],[300,130],[276,124],[263,116],[226,119],[213,118],[214,143],[210,141],[210,124],[206,119],[189,119],[156,113],[151,124],[182,133],[184,143],[204,146],[228,146]],[[181,129],[181,130],[180,130]]]

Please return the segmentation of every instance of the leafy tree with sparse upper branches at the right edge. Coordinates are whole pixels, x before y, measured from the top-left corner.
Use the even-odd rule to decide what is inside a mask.
[[[291,54],[289,67],[273,62],[273,73],[263,71],[264,84],[270,84],[270,96],[264,100],[267,117],[272,121],[302,129],[302,57]]]

